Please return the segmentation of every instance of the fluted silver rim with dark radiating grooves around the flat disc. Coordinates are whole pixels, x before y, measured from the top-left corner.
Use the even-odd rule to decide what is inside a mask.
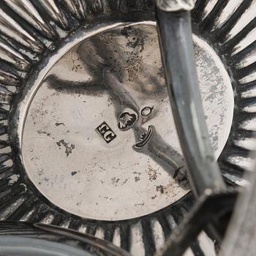
[[[256,3],[234,2],[197,0],[192,17],[195,34],[214,47],[233,83],[233,127],[219,165],[227,181],[244,185],[246,181],[241,176],[251,167],[249,153],[255,151],[256,138]],[[70,217],[37,195],[21,167],[15,164],[18,147],[13,143],[12,130],[16,127],[13,114],[20,91],[26,87],[34,67],[58,48],[61,40],[80,26],[105,17],[123,15],[125,21],[127,15],[140,12],[154,18],[153,1],[3,0],[0,8],[0,219],[71,227],[114,241],[134,254],[152,255],[189,209],[191,195],[155,214],[124,222]]]

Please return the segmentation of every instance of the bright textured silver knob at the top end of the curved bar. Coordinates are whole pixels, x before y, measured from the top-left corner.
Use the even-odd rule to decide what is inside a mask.
[[[195,0],[156,0],[157,7],[165,12],[191,11]]]

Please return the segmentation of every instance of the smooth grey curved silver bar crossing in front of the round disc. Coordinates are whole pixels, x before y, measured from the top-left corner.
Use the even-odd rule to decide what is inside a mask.
[[[200,99],[190,14],[157,8],[157,21],[170,104],[192,188],[195,195],[225,189]]]

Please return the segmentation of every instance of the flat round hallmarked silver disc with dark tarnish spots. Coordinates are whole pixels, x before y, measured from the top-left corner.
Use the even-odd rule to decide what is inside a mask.
[[[56,206],[91,219],[130,219],[176,202],[189,186],[155,23],[116,23],[73,38],[18,105],[29,178]],[[194,36],[194,44],[217,158],[230,133],[233,89],[208,43]]]

